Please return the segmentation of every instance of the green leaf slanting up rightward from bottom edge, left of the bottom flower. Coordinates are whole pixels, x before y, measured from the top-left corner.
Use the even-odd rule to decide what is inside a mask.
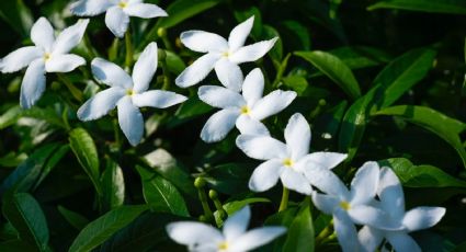
[[[87,252],[94,249],[145,210],[147,210],[147,206],[138,205],[121,206],[106,213],[82,229],[72,242],[69,252]]]

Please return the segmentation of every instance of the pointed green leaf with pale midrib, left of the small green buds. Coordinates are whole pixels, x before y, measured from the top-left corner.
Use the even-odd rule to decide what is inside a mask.
[[[143,180],[143,193],[151,210],[190,216],[183,196],[177,187],[158,173],[136,167]]]

